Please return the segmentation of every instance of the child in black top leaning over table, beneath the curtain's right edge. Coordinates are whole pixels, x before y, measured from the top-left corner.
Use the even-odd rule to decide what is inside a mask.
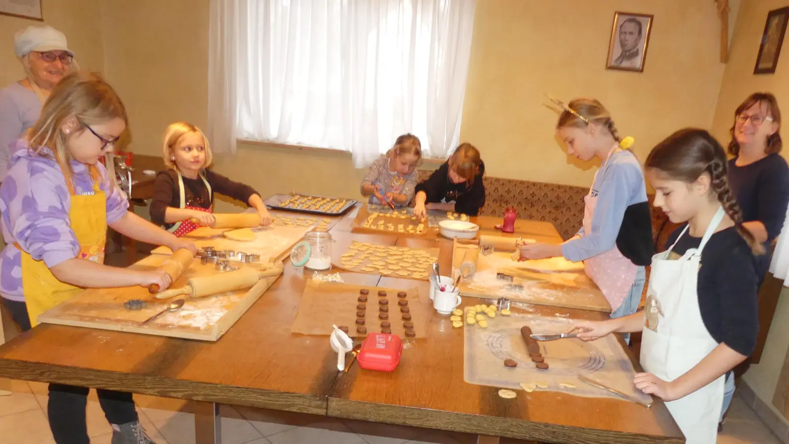
[[[427,180],[417,185],[413,215],[424,218],[428,209],[477,216],[485,205],[482,175],[485,164],[479,150],[463,143]]]

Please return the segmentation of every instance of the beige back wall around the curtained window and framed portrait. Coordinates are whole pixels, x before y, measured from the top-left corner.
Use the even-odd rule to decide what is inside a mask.
[[[208,0],[104,6],[107,76],[129,108],[133,150],[158,154],[168,123],[206,121]],[[645,73],[604,69],[615,10],[656,15]],[[712,124],[724,71],[718,27],[709,0],[478,0],[462,138],[482,150],[490,175],[588,186],[594,168],[567,160],[542,93],[596,96],[643,156],[680,126]],[[346,153],[245,144],[216,164],[264,195],[354,197],[365,172]]]

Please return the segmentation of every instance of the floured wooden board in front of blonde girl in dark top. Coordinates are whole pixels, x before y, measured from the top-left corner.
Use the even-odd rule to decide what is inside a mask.
[[[208,228],[213,229],[213,228]],[[293,246],[304,238],[310,227],[285,227],[269,226],[252,228],[255,233],[255,240],[251,242],[241,242],[237,240],[225,239],[221,233],[217,237],[210,239],[190,239],[193,240],[197,248],[213,246],[215,250],[234,250],[243,251],[248,254],[260,254],[260,262],[279,262],[290,254]],[[159,246],[151,251],[153,254],[173,254],[172,250],[166,246]]]

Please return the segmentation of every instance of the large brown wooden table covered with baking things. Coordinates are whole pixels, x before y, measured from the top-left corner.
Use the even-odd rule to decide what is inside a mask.
[[[345,231],[350,225],[344,224],[350,217],[331,229],[338,243],[353,239],[383,245],[438,244],[442,268],[449,266],[449,239],[352,234]],[[481,219],[481,224],[492,221]],[[518,226],[534,236],[551,237],[542,223],[524,221]],[[558,234],[554,241],[559,242]],[[416,284],[427,292],[424,281],[341,274],[352,284]],[[220,403],[464,431],[481,434],[480,442],[485,443],[498,441],[486,435],[570,443],[684,442],[660,401],[646,409],[626,401],[558,393],[504,400],[493,387],[466,384],[462,330],[451,329],[448,320],[435,313],[431,336],[406,349],[398,370],[381,373],[354,366],[338,374],[327,337],[293,335],[288,328],[311,275],[288,264],[274,286],[215,343],[39,325],[0,347],[0,376],[198,401],[200,444],[219,442]]]

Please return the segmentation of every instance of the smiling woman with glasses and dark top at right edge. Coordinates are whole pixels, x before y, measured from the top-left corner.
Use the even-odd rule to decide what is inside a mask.
[[[751,94],[735,111],[731,126],[729,182],[742,208],[743,226],[770,251],[778,237],[789,204],[789,167],[780,156],[781,111],[769,92]],[[759,282],[765,278],[770,256],[757,259]]]

